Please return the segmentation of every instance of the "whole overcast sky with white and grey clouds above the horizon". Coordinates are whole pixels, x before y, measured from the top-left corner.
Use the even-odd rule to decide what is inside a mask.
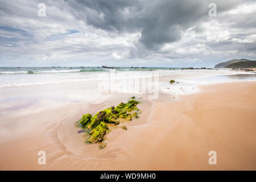
[[[217,16],[209,16],[211,2]],[[46,16],[38,15],[39,3]],[[249,0],[1,0],[0,67],[256,60],[255,17],[256,2]]]

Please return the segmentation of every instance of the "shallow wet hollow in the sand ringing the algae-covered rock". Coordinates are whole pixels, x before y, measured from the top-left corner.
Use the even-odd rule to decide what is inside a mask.
[[[126,102],[125,100],[118,100],[118,102]],[[80,114],[80,118],[77,118],[75,115],[65,119],[61,125],[57,128],[57,139],[61,143],[60,147],[68,152],[71,152],[72,155],[79,158],[88,158],[88,159],[113,159],[117,155],[129,155],[129,148],[127,148],[127,140],[130,143],[133,143],[133,139],[127,138],[130,133],[133,133],[133,130],[136,127],[141,127],[147,124],[147,117],[150,114],[150,108],[152,103],[143,98],[138,99],[141,104],[137,105],[141,114],[139,118],[133,118],[131,121],[120,122],[119,125],[109,125],[109,132],[104,137],[104,143],[106,147],[99,149],[100,143],[86,143],[86,135],[83,132],[78,133],[81,128],[74,125],[75,121],[80,119],[83,114],[86,113],[97,113],[103,108],[117,105],[116,101],[112,101],[113,104],[109,106],[102,106],[102,104],[90,105],[84,109],[83,113]],[[72,119],[73,118],[73,119]],[[76,118],[76,119],[75,119]],[[127,130],[123,130],[122,127],[126,126]],[[122,138],[124,140],[122,140]],[[135,142],[135,141],[134,141]]]

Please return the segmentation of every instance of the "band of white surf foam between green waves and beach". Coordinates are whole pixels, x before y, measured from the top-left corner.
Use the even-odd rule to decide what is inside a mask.
[[[38,71],[35,73],[42,74],[13,74],[13,73],[27,73],[27,71],[4,72],[0,74],[0,88],[13,86],[31,86],[31,85],[47,85],[60,84],[65,82],[81,82],[81,81],[97,81],[106,79],[120,80],[123,78],[142,78],[152,76],[170,76],[174,79],[187,85],[211,84],[222,82],[223,78],[213,80],[212,78],[221,75],[237,75],[237,74],[251,74],[250,72],[230,71],[229,69],[219,70],[155,70],[155,71],[113,71],[110,72],[80,72],[81,69],[63,69]],[[115,72],[113,74],[113,72]],[[3,72],[1,72],[3,73]],[[44,74],[47,73],[47,74]],[[68,74],[67,74],[68,73]],[[221,80],[222,79],[222,80]],[[229,80],[232,80],[230,78]],[[254,78],[255,80],[255,78]],[[169,84],[169,83],[167,83]],[[163,85],[164,86],[164,85]],[[166,91],[164,91],[166,92]]]

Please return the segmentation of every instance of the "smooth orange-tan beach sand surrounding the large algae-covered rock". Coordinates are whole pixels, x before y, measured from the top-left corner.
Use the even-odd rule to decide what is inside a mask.
[[[120,125],[106,135],[104,150],[85,144],[74,123],[130,95],[39,110],[1,125],[6,137],[0,140],[0,169],[255,170],[255,94],[255,81],[241,81],[200,86],[179,100],[164,101],[162,93],[153,101],[142,96],[141,117],[125,124],[127,131]],[[46,165],[38,164],[42,150]],[[209,151],[217,152],[217,165],[209,165]]]

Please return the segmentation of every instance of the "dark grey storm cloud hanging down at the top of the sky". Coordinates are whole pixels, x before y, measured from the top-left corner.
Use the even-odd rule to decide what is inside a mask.
[[[69,2],[69,1],[68,1]],[[103,30],[141,30],[140,42],[149,49],[180,40],[181,31],[209,19],[209,3],[199,0],[159,1],[71,1],[80,19]],[[218,13],[232,9],[239,1],[216,1]]]

